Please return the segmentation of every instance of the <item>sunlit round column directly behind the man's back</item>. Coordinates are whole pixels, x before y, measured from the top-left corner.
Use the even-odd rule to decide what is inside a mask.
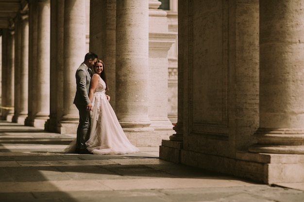
[[[64,13],[64,115],[61,133],[76,134],[79,112],[73,104],[76,92],[75,73],[85,55],[85,1],[65,0]]]

